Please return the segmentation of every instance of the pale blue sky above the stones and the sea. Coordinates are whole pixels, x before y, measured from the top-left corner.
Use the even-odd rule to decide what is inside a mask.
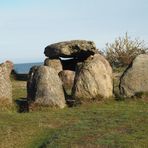
[[[148,0],[0,0],[0,63],[44,61],[52,43],[86,39],[103,49],[128,32],[148,42]]]

